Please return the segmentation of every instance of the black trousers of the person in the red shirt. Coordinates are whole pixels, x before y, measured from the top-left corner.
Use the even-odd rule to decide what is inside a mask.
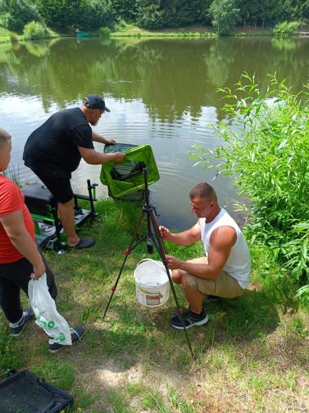
[[[49,294],[56,299],[58,290],[54,274],[42,253],[41,255],[46,268]],[[10,264],[0,264],[0,306],[10,323],[16,323],[23,315],[20,293],[22,289],[28,295],[31,273],[33,273],[33,266],[25,258]]]

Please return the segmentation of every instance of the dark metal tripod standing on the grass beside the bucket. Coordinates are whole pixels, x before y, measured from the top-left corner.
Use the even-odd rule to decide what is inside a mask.
[[[158,253],[161,257],[161,261],[162,261],[162,263],[165,267],[165,271],[168,275],[168,280],[170,282],[170,288],[172,289],[172,294],[174,296],[177,312],[179,313],[181,323],[183,324],[183,331],[185,332],[185,338],[187,339],[187,345],[190,349],[192,358],[194,359],[194,353],[193,353],[193,350],[192,350],[192,346],[191,346],[189,337],[187,335],[187,330],[185,328],[185,322],[183,320],[183,309],[179,307],[179,301],[178,301],[177,296],[176,296],[176,292],[175,292],[175,288],[174,288],[174,285],[173,285],[173,282],[172,282],[172,278],[170,277],[170,271],[168,270],[168,266],[167,266],[166,261],[165,261],[165,254],[166,254],[165,246],[164,246],[162,237],[160,235],[159,226],[157,224],[157,221],[155,220],[155,215],[153,213],[154,208],[152,207],[152,205],[149,202],[148,169],[147,169],[147,167],[144,167],[143,175],[144,175],[144,182],[145,182],[146,203],[144,204],[143,211],[141,211],[141,216],[139,217],[137,225],[135,226],[135,231],[134,231],[133,237],[130,241],[130,245],[128,246],[128,248],[125,251],[126,256],[124,257],[124,262],[122,263],[122,267],[120,268],[120,271],[119,271],[118,277],[116,279],[115,285],[113,286],[113,288],[111,288],[111,297],[108,300],[108,303],[107,303],[107,306],[105,308],[102,320],[104,320],[104,317],[107,313],[109,304],[111,304],[111,299],[113,298],[113,295],[114,295],[115,290],[117,288],[117,284],[119,282],[120,276],[122,275],[122,271],[124,269],[124,264],[126,264],[126,260],[128,259],[128,256],[130,255],[130,252],[137,245],[141,244],[141,242],[146,241],[147,242],[147,252],[148,252],[148,254],[153,253],[153,251],[154,251],[153,246],[155,245],[155,247],[156,247],[156,249],[157,249],[157,251],[158,251]],[[138,241],[135,242],[135,240],[137,238],[137,233],[139,231],[139,227],[141,226],[141,222],[142,222],[145,214],[146,214],[146,217],[147,217],[148,231],[147,231],[146,235],[144,235]],[[153,231],[152,231],[152,229],[153,229]]]

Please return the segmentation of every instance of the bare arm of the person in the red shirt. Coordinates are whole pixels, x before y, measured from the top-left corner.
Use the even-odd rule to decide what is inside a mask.
[[[17,251],[33,265],[34,277],[41,277],[45,273],[45,266],[36,243],[25,227],[23,211],[19,209],[7,215],[1,215],[0,222]]]

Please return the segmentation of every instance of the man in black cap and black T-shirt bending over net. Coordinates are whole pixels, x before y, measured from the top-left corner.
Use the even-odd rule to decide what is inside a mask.
[[[58,201],[58,214],[67,235],[67,245],[71,247],[88,248],[95,243],[91,238],[80,238],[76,234],[71,172],[77,169],[81,158],[91,165],[124,159],[124,153],[100,153],[93,147],[93,141],[115,144],[115,140],[100,136],[90,127],[98,124],[104,112],[111,111],[102,97],[90,94],[80,108],[65,109],[47,119],[32,132],[23,151],[25,165]]]

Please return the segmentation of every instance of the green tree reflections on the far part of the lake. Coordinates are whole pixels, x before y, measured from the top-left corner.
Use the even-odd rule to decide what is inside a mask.
[[[299,87],[307,76],[306,47],[308,39],[27,42],[18,50],[1,46],[0,85],[10,92],[14,74],[19,92],[31,87],[32,94],[49,95],[58,107],[100,87],[114,98],[142,99],[152,119],[172,122],[187,112],[198,118],[203,106],[220,107],[216,87],[233,85],[243,70],[265,83],[265,75],[277,69]]]

